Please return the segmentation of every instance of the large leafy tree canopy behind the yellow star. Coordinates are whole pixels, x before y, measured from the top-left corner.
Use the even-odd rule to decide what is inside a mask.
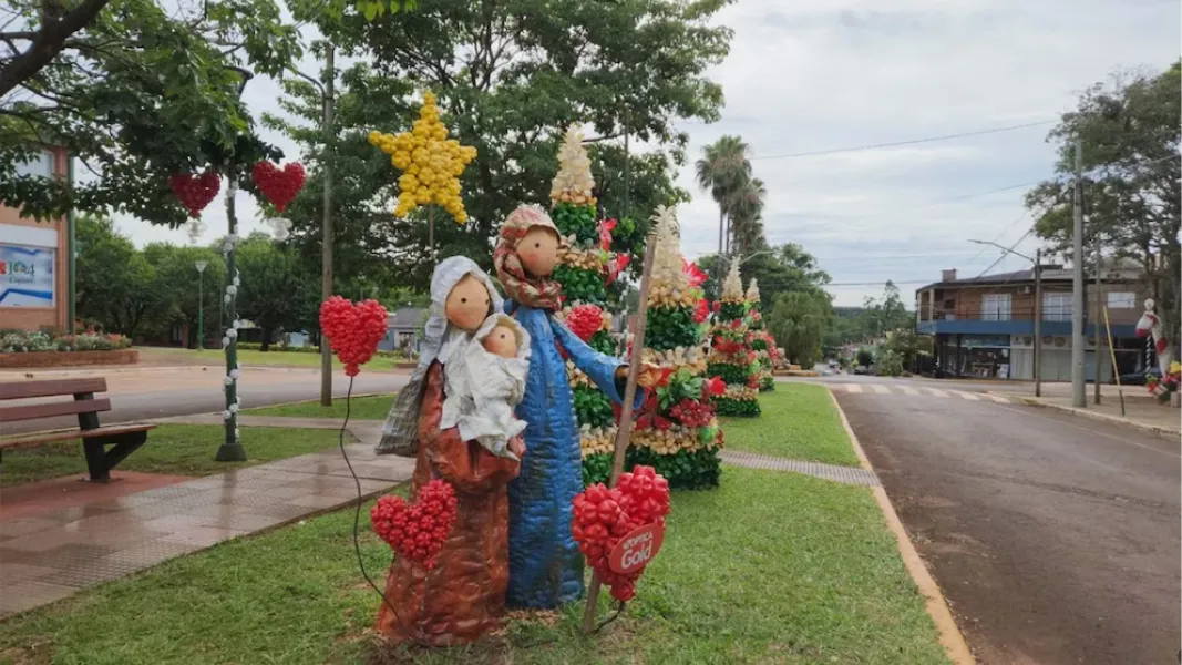
[[[558,142],[573,122],[595,134],[590,156],[605,214],[623,217],[626,198],[629,217],[645,220],[657,204],[686,198],[673,183],[688,142],[675,121],[719,117],[722,91],[704,72],[728,50],[730,31],[710,25],[726,4],[440,0],[372,22],[359,17],[322,21],[322,32],[344,56],[363,60],[339,73],[332,149],[324,151],[319,91],[311,84],[286,86],[285,104],[297,123],[268,122],[311,157],[310,194],[323,191],[322,162],[331,155],[343,260],[363,262],[368,271],[423,289],[431,269],[427,213],[390,214],[397,172],[368,143],[370,130],[407,129],[417,117],[418,93],[430,90],[452,135],[476,148],[461,181],[470,220],[435,225],[441,256],[488,264],[504,217],[521,202],[547,201]],[[655,147],[631,155],[626,195],[625,133]],[[313,200],[305,196],[288,214],[307,256],[319,243]],[[350,246],[356,247],[352,258]]]

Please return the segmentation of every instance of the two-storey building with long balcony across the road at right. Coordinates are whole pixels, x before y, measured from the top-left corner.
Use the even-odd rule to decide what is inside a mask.
[[[1105,267],[1098,299],[1093,280],[1090,275],[1084,292],[1087,381],[1095,381],[1097,372],[1100,381],[1112,381],[1112,355],[1116,374],[1142,372],[1145,341],[1135,330],[1144,312],[1142,276],[1128,266]],[[1072,273],[1044,265],[1041,282],[1041,303],[1035,299],[1033,269],[969,279],[957,279],[956,271],[948,270],[940,282],[918,289],[916,330],[935,338],[936,375],[1032,380],[1034,317],[1041,311],[1041,377],[1070,381]],[[1095,344],[1097,324],[1099,349]]]

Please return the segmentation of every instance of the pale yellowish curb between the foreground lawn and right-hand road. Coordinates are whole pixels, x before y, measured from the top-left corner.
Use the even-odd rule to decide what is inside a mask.
[[[850,427],[850,421],[845,418],[845,412],[842,409],[842,405],[838,403],[837,395],[833,394],[833,390],[829,389],[829,396],[833,400],[833,408],[837,409],[837,414],[842,419],[842,427],[845,428],[845,434],[850,438],[850,444],[853,445],[853,452],[858,456],[858,461],[863,469],[873,473],[873,466],[870,465],[870,459],[866,457],[865,451],[862,450],[858,437],[853,433],[853,428]],[[886,518],[886,525],[895,534],[895,540],[898,542],[898,551],[903,557],[907,572],[911,574],[915,586],[923,594],[928,615],[931,616],[936,630],[940,631],[940,644],[944,647],[944,653],[955,665],[975,665],[976,659],[973,658],[973,652],[968,648],[968,643],[965,641],[965,635],[961,633],[960,626],[956,625],[952,609],[948,608],[948,601],[940,590],[940,585],[936,583],[931,573],[928,572],[928,567],[920,559],[920,553],[915,549],[915,544],[911,543],[911,537],[907,535],[907,529],[903,528],[903,522],[900,521],[898,514],[895,512],[895,506],[891,505],[890,497],[886,496],[886,490],[879,485],[871,488],[871,491],[875,495],[875,501],[878,502],[878,508],[882,509],[883,516]]]

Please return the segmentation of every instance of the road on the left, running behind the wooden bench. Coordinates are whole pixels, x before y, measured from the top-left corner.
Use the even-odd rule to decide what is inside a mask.
[[[134,374],[105,375],[105,396],[111,400],[111,411],[99,414],[104,425],[137,422],[157,418],[174,418],[200,413],[221,412],[225,406],[219,368],[202,370],[200,367],[169,370],[141,370]],[[37,376],[51,379],[56,376]],[[355,380],[353,394],[391,393],[405,385],[408,374],[362,372]],[[8,376],[5,380],[14,380]],[[243,368],[239,381],[242,408],[258,408],[277,403],[318,400],[320,376],[311,369]],[[336,374],[332,381],[333,395],[344,398],[349,379]],[[48,418],[24,422],[5,422],[4,434],[20,434],[40,430],[77,427],[74,417]]]

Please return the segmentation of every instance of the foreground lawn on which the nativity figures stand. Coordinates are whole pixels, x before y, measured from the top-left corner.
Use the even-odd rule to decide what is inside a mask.
[[[376,663],[365,631],[379,600],[351,528],[351,511],[326,515],[13,618],[0,663]],[[381,585],[389,549],[366,531],[363,553]],[[791,473],[728,469],[720,490],[675,493],[626,615],[589,639],[580,615],[381,661],[947,663],[870,491]]]

